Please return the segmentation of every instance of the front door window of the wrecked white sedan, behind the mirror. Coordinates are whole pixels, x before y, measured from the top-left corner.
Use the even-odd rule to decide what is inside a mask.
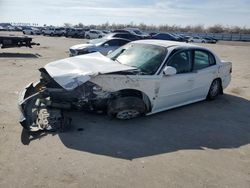
[[[192,69],[191,51],[177,52],[170,58],[168,66],[176,68],[177,74],[191,72]]]

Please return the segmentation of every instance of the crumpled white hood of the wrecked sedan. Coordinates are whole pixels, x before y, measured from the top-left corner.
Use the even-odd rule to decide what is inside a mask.
[[[99,52],[54,61],[44,68],[66,90],[73,90],[98,74],[135,69],[117,63]]]

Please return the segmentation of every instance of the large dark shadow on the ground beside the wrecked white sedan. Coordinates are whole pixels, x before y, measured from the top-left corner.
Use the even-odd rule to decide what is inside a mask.
[[[127,160],[178,150],[231,149],[250,143],[249,109],[250,101],[225,94],[129,121],[71,112],[71,130],[58,135],[70,149]]]

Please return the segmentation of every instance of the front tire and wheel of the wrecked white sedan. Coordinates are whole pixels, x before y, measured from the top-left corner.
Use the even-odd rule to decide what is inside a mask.
[[[121,97],[111,101],[107,108],[110,117],[128,120],[144,115],[146,105],[138,97]]]

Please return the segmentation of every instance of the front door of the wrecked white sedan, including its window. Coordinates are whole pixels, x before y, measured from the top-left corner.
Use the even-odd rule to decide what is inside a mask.
[[[170,55],[166,66],[176,68],[177,74],[165,76],[163,70],[160,73],[162,78],[153,111],[166,110],[196,100],[193,90],[196,73],[192,72],[192,56],[191,50],[181,50]]]

